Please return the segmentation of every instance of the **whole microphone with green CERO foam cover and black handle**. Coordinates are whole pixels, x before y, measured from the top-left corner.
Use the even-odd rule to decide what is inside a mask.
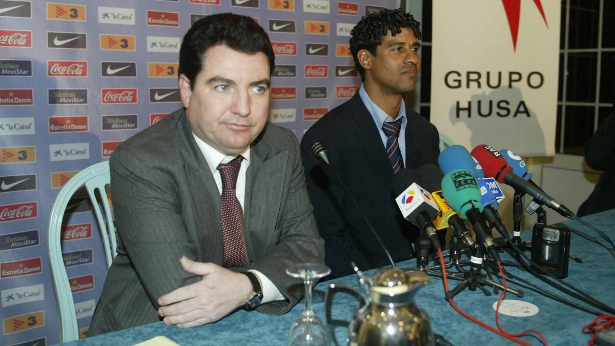
[[[442,179],[442,192],[455,211],[464,219],[470,220],[477,241],[484,243],[487,251],[494,260],[499,260],[498,251],[493,243],[493,238],[486,233],[483,204],[480,202],[480,188],[478,182],[467,169],[455,169],[446,173]]]

